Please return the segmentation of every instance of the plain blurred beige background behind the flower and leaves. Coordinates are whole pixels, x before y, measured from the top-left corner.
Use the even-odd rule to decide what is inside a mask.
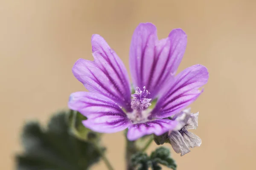
[[[186,31],[179,71],[200,63],[210,73],[192,105],[200,111],[195,132],[203,144],[183,157],[173,153],[178,170],[253,170],[255,7],[255,0],[0,0],[0,169],[14,169],[25,120],[45,122],[67,107],[70,93],[85,90],[71,68],[79,58],[93,58],[92,34],[101,34],[128,68],[133,31],[151,22],[160,38],[173,28]],[[124,169],[122,133],[104,139],[115,169]]]

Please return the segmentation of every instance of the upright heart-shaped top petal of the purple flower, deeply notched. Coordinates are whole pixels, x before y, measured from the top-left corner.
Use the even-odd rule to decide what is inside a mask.
[[[141,23],[134,31],[130,48],[130,70],[134,87],[146,89],[154,99],[172,81],[186,49],[186,34],[174,29],[158,40],[157,28]]]

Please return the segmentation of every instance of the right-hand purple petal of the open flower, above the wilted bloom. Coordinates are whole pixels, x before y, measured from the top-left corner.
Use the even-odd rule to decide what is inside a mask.
[[[175,77],[175,82],[161,96],[150,118],[166,118],[179,113],[203,92],[199,90],[208,81],[209,74],[203,65],[193,65],[183,70]]]

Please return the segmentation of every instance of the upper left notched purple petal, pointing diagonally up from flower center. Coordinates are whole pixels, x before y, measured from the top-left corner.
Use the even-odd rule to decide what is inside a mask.
[[[74,76],[91,92],[108,96],[127,111],[131,111],[131,89],[127,70],[99,35],[92,37],[94,61],[79,59],[73,66]]]

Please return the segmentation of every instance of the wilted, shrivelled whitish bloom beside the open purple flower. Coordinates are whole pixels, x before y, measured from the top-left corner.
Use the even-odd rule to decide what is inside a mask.
[[[169,132],[167,138],[176,153],[180,153],[180,156],[183,156],[190,152],[189,148],[201,145],[202,140],[188,131],[198,127],[198,113],[191,113],[189,108],[176,114],[172,119],[178,121],[179,124],[176,130]]]

